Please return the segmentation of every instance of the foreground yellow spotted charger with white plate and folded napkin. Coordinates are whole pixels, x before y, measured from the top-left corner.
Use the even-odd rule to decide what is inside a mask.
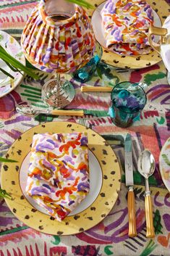
[[[35,126],[12,144],[16,163],[1,168],[10,210],[25,225],[53,235],[77,234],[100,223],[114,207],[121,185],[111,146],[90,128],[51,122]]]

